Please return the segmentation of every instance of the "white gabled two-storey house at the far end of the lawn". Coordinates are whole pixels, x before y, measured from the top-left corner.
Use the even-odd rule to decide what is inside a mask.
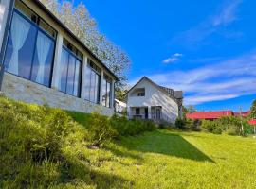
[[[142,77],[127,93],[128,117],[174,123],[182,116],[182,100],[182,91],[159,86]]]

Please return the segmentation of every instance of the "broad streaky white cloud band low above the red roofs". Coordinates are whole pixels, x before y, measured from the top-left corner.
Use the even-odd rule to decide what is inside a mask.
[[[188,71],[171,71],[148,77],[159,85],[184,91],[187,105],[256,94],[256,52]]]

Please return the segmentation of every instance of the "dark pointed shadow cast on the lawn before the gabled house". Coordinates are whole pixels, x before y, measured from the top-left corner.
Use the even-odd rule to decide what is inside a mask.
[[[139,152],[158,153],[192,161],[215,163],[181,135],[182,133],[179,135],[178,133],[156,130],[139,137],[128,137],[122,140],[120,145]]]

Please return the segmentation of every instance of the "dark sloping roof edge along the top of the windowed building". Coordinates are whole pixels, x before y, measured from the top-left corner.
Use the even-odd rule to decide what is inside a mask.
[[[41,3],[39,0],[33,0],[32,2],[36,3],[36,5],[43,9],[46,14],[54,20],[58,25],[62,26],[64,30],[70,35],[77,43],[81,44],[83,48],[97,61],[101,63],[101,66],[104,67],[112,77],[115,77],[115,79],[119,80],[119,77],[117,77],[82,41],[69,29],[67,26],[64,26],[64,24],[49,10],[46,8],[46,6]]]

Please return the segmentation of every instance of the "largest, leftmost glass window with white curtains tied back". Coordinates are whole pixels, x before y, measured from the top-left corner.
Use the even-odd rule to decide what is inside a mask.
[[[26,12],[29,12],[29,9],[26,9]],[[28,14],[26,12],[21,13],[17,9],[13,12],[5,70],[13,75],[49,86],[55,39],[34,23],[32,18],[35,16],[31,16],[31,19],[25,16],[24,14]],[[34,15],[32,11],[30,15]],[[39,17],[36,19],[40,21]]]

